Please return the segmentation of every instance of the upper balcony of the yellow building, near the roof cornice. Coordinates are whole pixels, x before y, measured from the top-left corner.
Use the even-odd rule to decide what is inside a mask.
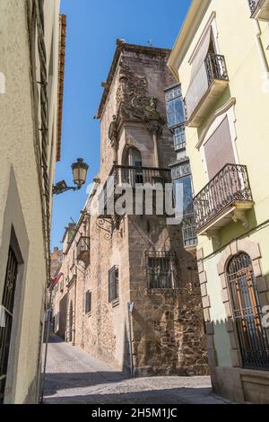
[[[229,84],[225,57],[210,53],[185,98],[187,127],[199,127]]]

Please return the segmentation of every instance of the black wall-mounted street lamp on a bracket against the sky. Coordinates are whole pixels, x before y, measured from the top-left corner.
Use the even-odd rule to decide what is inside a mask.
[[[53,187],[53,194],[60,195],[61,193],[66,192],[67,190],[80,190],[82,185],[85,183],[87,178],[87,171],[89,165],[84,163],[82,158],[78,158],[76,163],[72,164],[73,179],[76,186],[69,187],[66,185],[65,180],[59,181]]]

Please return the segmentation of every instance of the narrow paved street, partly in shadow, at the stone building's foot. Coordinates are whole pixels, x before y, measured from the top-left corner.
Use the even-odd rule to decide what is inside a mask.
[[[59,338],[48,345],[47,404],[226,404],[209,377],[130,379]]]

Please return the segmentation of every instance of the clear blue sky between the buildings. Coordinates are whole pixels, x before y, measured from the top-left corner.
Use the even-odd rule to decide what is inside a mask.
[[[100,166],[100,122],[93,116],[116,48],[116,40],[172,48],[191,0],[61,0],[67,15],[62,158],[56,181],[73,185],[71,164],[89,165],[87,183]],[[86,187],[55,198],[51,247],[61,246],[65,226],[80,215]]]

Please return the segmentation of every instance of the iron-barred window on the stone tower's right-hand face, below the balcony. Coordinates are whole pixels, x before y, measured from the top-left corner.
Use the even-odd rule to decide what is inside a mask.
[[[176,256],[173,252],[147,252],[148,288],[173,288]]]

